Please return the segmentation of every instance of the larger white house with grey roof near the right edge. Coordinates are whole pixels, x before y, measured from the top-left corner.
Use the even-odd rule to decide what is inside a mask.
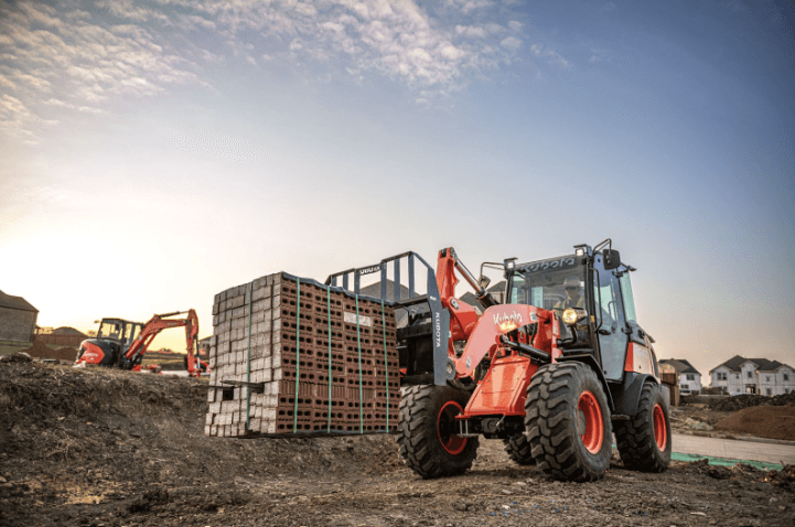
[[[729,394],[775,396],[795,391],[795,369],[766,358],[731,357],[709,372],[711,386],[726,388]]]

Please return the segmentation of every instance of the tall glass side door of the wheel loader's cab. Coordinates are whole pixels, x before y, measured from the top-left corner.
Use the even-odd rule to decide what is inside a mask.
[[[626,347],[630,342],[626,334],[621,286],[612,270],[604,270],[601,256],[597,256],[593,268],[595,271],[593,281],[594,316],[602,370],[608,380],[621,380],[626,361]]]

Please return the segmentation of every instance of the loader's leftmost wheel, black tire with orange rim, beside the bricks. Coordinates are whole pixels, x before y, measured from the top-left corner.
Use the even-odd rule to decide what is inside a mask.
[[[479,438],[460,438],[453,417],[470,394],[450,386],[410,386],[400,400],[397,441],[406,466],[426,480],[463,474],[477,456]]]

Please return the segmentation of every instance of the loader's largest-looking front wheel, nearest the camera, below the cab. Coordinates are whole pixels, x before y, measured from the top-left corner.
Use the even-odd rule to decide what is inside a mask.
[[[592,482],[610,466],[610,408],[597,374],[580,363],[547,364],[527,387],[525,427],[538,467]],[[587,445],[588,444],[588,445]]]

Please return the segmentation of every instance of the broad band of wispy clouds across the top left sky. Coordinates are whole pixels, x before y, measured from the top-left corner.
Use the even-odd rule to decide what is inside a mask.
[[[0,0],[0,87],[46,120],[175,85],[207,87],[207,63],[254,69],[281,61],[312,79],[387,77],[433,101],[513,62],[526,40],[514,8],[492,0]],[[536,46],[531,55],[568,67]]]

